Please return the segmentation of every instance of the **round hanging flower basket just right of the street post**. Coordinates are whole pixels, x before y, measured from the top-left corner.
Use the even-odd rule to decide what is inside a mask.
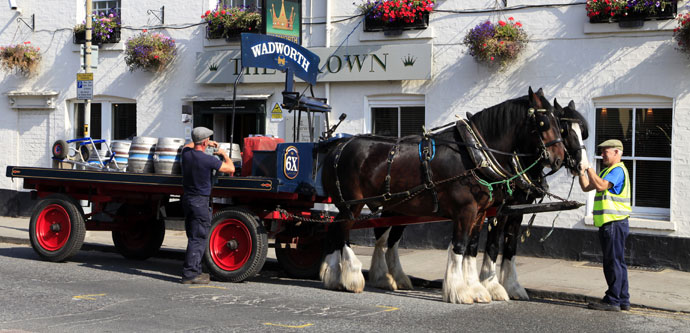
[[[176,53],[174,39],[144,30],[127,40],[125,63],[132,72],[136,69],[160,72],[172,62]]]

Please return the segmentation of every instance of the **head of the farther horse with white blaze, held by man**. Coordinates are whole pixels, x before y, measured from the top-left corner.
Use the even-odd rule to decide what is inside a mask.
[[[578,165],[587,157],[585,140],[589,137],[587,119],[575,109],[572,100],[568,106],[561,107],[554,98],[553,106],[561,124],[561,136],[566,149],[565,167],[573,174],[578,173]]]

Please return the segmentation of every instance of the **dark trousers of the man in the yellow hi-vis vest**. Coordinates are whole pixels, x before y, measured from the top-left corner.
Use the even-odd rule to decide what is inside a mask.
[[[628,266],[625,264],[625,240],[629,230],[627,218],[599,227],[599,242],[604,254],[604,276],[609,285],[604,302],[612,305],[630,305]]]

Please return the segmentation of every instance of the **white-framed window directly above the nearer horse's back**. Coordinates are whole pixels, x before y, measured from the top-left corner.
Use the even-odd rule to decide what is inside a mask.
[[[371,132],[403,137],[423,132],[424,96],[386,96],[369,98]]]

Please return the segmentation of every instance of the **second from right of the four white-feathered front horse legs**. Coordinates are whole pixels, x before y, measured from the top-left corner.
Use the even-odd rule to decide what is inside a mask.
[[[507,301],[510,300],[508,293],[505,288],[498,281],[498,275],[496,274],[496,260],[498,258],[498,245],[501,237],[501,232],[506,223],[506,218],[497,218],[498,224],[492,226],[492,221],[489,220],[489,232],[486,238],[486,248],[484,249],[484,261],[482,263],[482,269],[479,273],[479,280],[482,285],[491,294],[491,299],[494,301]]]

